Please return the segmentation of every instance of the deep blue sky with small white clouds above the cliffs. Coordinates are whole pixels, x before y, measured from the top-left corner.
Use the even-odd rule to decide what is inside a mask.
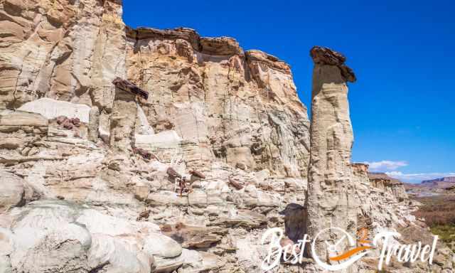
[[[291,65],[310,105],[309,49],[344,53],[353,161],[404,181],[455,176],[455,4],[451,1],[124,1],[132,27],[230,36]],[[368,1],[373,2],[373,1]]]

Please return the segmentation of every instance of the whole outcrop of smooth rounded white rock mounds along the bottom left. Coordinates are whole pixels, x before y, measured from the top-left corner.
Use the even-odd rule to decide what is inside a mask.
[[[181,246],[151,223],[116,218],[65,201],[48,200],[16,209],[11,232],[1,229],[1,266],[23,272],[146,273],[181,259]],[[8,245],[10,247],[8,247]],[[158,259],[155,262],[155,257]],[[160,262],[161,261],[161,262]]]

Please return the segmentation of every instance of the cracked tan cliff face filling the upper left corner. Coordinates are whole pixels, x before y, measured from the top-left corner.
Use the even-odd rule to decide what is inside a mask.
[[[6,0],[0,5],[1,106],[50,97],[112,107],[110,82],[126,73],[119,1]]]

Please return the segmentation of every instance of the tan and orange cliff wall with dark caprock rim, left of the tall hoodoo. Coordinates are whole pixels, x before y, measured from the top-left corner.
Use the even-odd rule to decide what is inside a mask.
[[[208,171],[210,162],[223,161],[306,177],[309,121],[289,65],[188,28],[129,29],[127,38],[128,78],[151,91],[141,100],[146,119],[157,136],[178,134],[188,168]],[[173,144],[146,141],[141,137],[138,145],[162,159],[173,156],[161,150]]]

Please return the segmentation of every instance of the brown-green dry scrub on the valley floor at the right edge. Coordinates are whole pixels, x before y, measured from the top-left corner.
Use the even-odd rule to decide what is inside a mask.
[[[417,198],[423,205],[414,215],[424,218],[444,242],[455,241],[455,196],[433,196]]]

